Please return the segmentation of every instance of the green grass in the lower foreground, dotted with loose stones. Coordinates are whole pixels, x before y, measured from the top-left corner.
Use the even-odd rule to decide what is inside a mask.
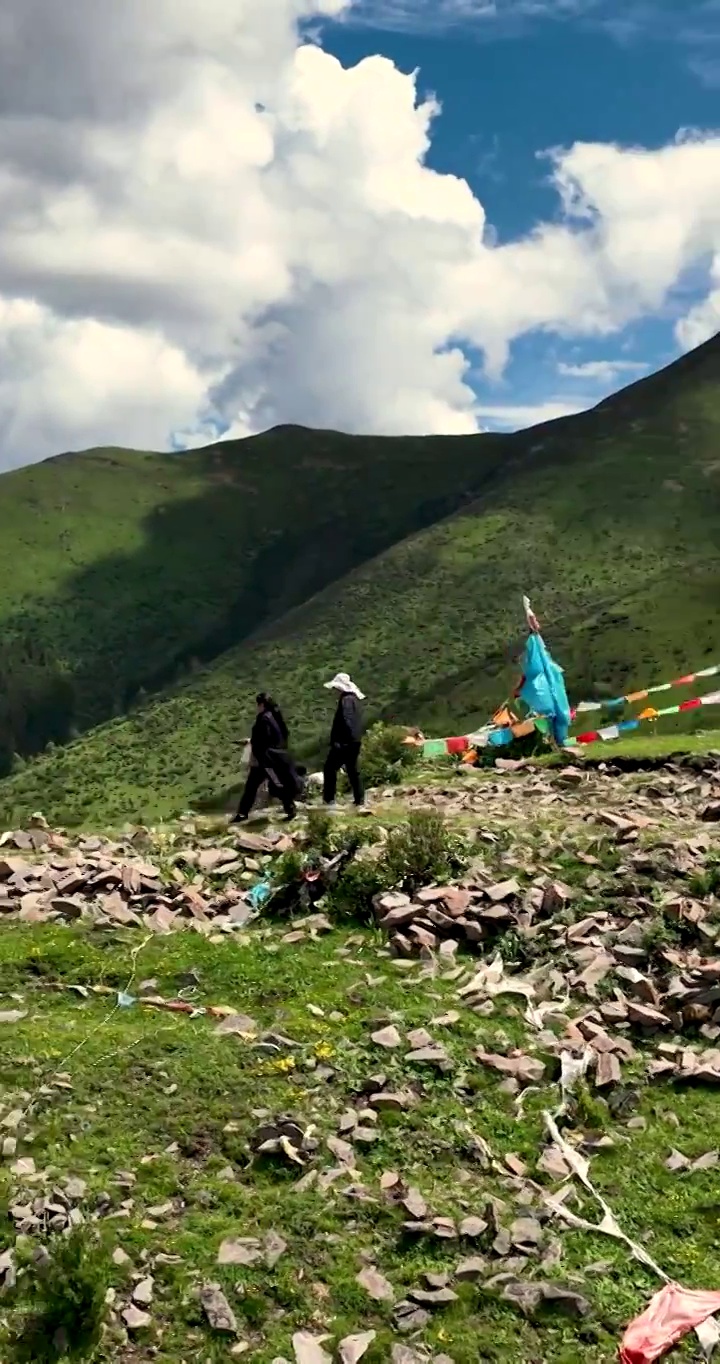
[[[70,930],[5,929],[4,989],[22,996],[29,1016],[3,1031],[0,1075],[5,1105],[16,1091],[34,1095],[35,1136],[27,1151],[38,1170],[52,1170],[55,1183],[70,1176],[86,1180],[86,1209],[102,1192],[115,1210],[131,1198],[130,1215],[98,1228],[108,1249],[121,1247],[138,1270],[154,1274],[155,1324],[143,1338],[168,1364],[228,1359],[228,1344],[209,1331],[194,1296],[199,1282],[215,1279],[258,1360],[290,1356],[290,1335],[303,1329],[327,1330],[334,1338],[374,1329],[378,1339],[368,1359],[387,1359],[394,1334],[389,1308],[371,1303],[355,1281],[363,1256],[372,1258],[400,1299],[424,1271],[451,1270],[473,1248],[404,1240],[401,1214],[380,1196],[379,1176],[397,1170],[439,1215],[481,1213],[491,1195],[507,1199],[499,1176],[468,1158],[468,1131],[480,1133],[498,1159],[515,1153],[533,1169],[541,1106],[554,1095],[532,1097],[518,1123],[496,1078],[468,1061],[472,1048],[488,1043],[498,1026],[514,1028],[517,1022],[511,1015],[503,1019],[502,1011],[491,1020],[464,1012],[454,1028],[434,1030],[443,1033],[454,1076],[424,1080],[419,1106],[400,1118],[380,1118],[375,1144],[359,1148],[359,1178],[371,1202],[357,1203],[335,1187],[297,1194],[293,1183],[300,1172],[273,1161],[250,1163],[248,1143],[259,1121],[254,1110],[290,1112],[316,1123],[325,1139],[372,1072],[387,1072],[393,1086],[416,1083],[417,1072],[397,1054],[379,1053],[370,1033],[390,1018],[404,1030],[427,1026],[457,1003],[451,982],[420,983],[415,973],[400,973],[378,956],[372,936],[357,945],[335,933],[290,949],[278,944],[278,934],[255,936],[244,947],[215,947],[183,934],[143,949],[140,974],[155,978],[168,997],[192,968],[202,1003],[232,1004],[260,1026],[292,1037],[296,1064],[284,1071],[239,1038],[217,1037],[207,1018],[140,1008],[112,1012],[112,998],[83,1000],[67,989],[97,983],[123,989],[132,968],[130,949],[121,937],[98,943]],[[334,1068],[331,1080],[315,1076],[318,1058]],[[68,1079],[57,1088],[59,1068]],[[458,1083],[468,1073],[469,1091]],[[46,1086],[42,1094],[41,1086]],[[679,1129],[670,1123],[671,1106]],[[642,1090],[638,1112],[648,1117],[648,1131],[626,1132],[614,1150],[596,1157],[593,1178],[626,1230],[668,1274],[709,1286],[720,1275],[716,1176],[678,1178],[664,1169],[664,1158],[672,1146],[689,1155],[708,1150],[717,1099],[693,1091],[670,1102],[667,1091]],[[334,1161],[323,1151],[315,1163],[323,1170]],[[130,1172],[130,1184],[119,1183],[117,1172]],[[4,1181],[12,1191],[23,1184],[7,1166]],[[154,1228],[142,1226],[150,1209],[168,1203],[172,1210]],[[1,1225],[0,1245],[3,1234],[10,1244],[10,1228],[3,1233]],[[225,1237],[262,1237],[270,1229],[288,1243],[274,1271],[217,1267]],[[562,1245],[562,1264],[551,1277],[575,1286],[574,1277],[581,1277],[581,1292],[593,1304],[582,1327],[562,1316],[525,1322],[491,1293],[465,1286],[423,1338],[455,1364],[475,1364],[479,1357],[548,1364],[615,1359],[625,1320],[656,1285],[612,1241],[563,1233]],[[177,1263],[155,1266],[158,1252],[177,1256]],[[610,1262],[607,1273],[584,1279],[584,1267],[600,1259]],[[127,1294],[128,1269],[113,1269],[112,1282],[119,1296]],[[105,1357],[125,1356],[110,1339]]]

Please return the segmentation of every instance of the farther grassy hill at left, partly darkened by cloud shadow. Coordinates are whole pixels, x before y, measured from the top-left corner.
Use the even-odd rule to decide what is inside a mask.
[[[285,427],[0,477],[0,772],[123,713],[492,476],[503,438]]]

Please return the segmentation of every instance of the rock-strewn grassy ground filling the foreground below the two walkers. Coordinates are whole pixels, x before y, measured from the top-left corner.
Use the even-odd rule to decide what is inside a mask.
[[[719,1286],[720,760],[374,807],[460,861],[360,925],[305,818],[3,835],[3,1359],[74,1228],[108,1360],[604,1361],[638,1249]]]

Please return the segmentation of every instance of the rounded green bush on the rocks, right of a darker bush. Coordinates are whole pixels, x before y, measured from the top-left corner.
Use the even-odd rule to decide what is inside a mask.
[[[462,872],[465,854],[465,844],[438,810],[413,810],[387,835],[379,872],[387,887],[412,895]]]

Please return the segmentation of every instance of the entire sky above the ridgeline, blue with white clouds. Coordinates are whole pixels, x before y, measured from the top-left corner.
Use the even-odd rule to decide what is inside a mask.
[[[720,0],[155,8],[3,0],[0,469],[513,430],[720,330]]]

